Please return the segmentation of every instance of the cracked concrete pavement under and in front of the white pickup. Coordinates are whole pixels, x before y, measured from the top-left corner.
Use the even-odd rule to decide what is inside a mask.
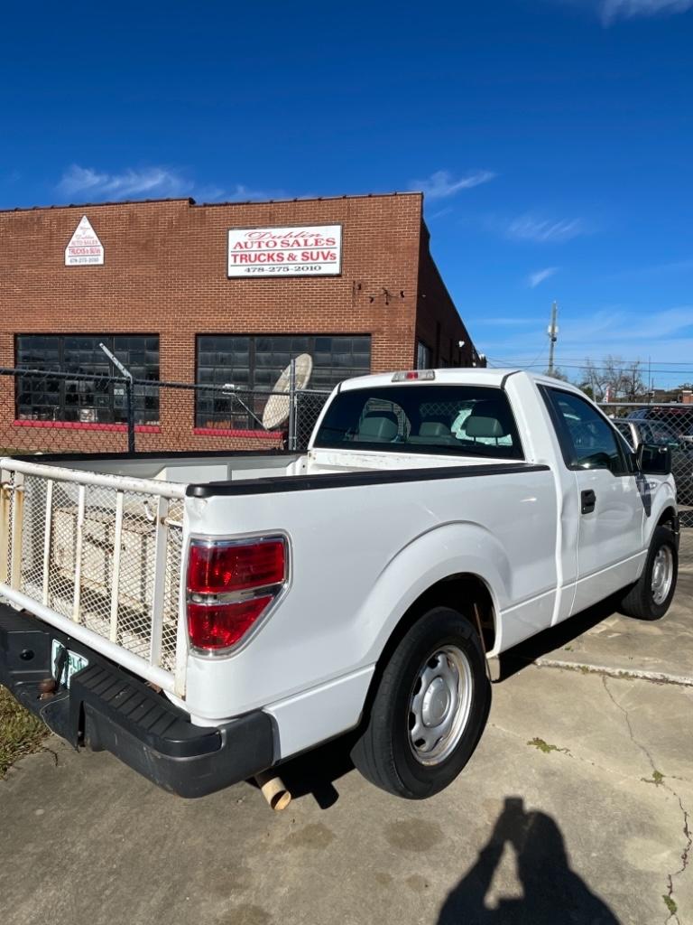
[[[647,654],[669,624],[666,668],[683,587],[680,621],[595,623],[581,655]],[[0,783],[3,925],[693,925],[693,687],[512,670],[466,771],[423,803],[365,783],[339,743],[286,769],[302,796],[273,815],[249,784],[184,801],[49,740]]]

